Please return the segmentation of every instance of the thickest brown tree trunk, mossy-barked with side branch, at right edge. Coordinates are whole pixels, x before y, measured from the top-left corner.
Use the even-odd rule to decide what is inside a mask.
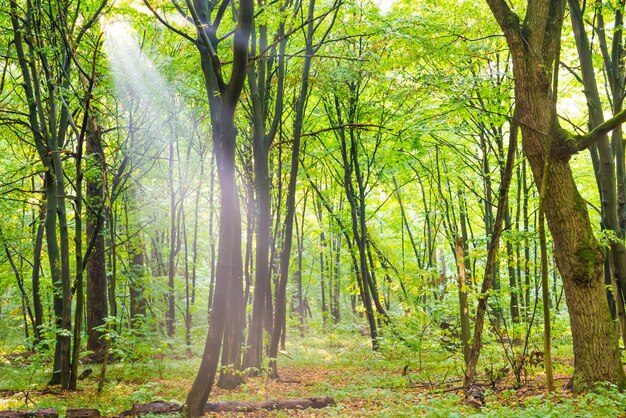
[[[587,135],[574,137],[556,118],[552,69],[560,48],[565,0],[529,2],[525,19],[504,0],[486,0],[504,32],[513,60],[515,102],[526,157],[538,187],[551,153],[545,214],[563,277],[574,348],[574,390],[598,381],[626,385],[617,337],[606,305],[600,244],[593,235],[586,204],[574,183],[569,159],[603,132],[618,127],[617,115]]]

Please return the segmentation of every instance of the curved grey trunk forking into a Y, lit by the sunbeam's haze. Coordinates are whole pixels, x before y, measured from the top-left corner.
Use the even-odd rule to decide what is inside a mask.
[[[254,2],[241,0],[239,4],[238,26],[233,36],[232,71],[228,84],[222,79],[221,64],[215,52],[217,27],[210,21],[212,6],[201,0],[194,1],[193,5],[192,2],[187,4],[197,24],[197,46],[211,111],[220,185],[219,257],[217,257],[215,295],[200,369],[186,399],[186,415],[199,417],[204,415],[204,406],[215,381],[220,352],[227,352],[226,349],[222,350],[222,341],[229,312],[237,311],[243,314],[242,298],[232,299],[234,291],[242,292],[241,214],[235,180],[237,130],[234,117],[246,78],[248,40],[254,22]],[[220,94],[219,97],[217,92]]]

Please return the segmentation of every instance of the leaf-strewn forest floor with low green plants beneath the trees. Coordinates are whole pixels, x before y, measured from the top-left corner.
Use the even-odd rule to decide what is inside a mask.
[[[372,353],[367,339],[354,335],[294,337],[279,356],[280,379],[249,377],[235,390],[215,388],[210,401],[321,396],[336,400],[335,406],[318,410],[227,415],[245,417],[626,417],[626,395],[615,389],[598,387],[595,392],[576,396],[568,392],[565,386],[571,361],[567,359],[571,357],[558,356],[557,391],[549,395],[540,366],[527,370],[518,389],[510,373],[492,385],[483,366],[486,407],[476,410],[463,405],[462,369],[456,355],[441,351],[412,356],[393,348]],[[490,361],[488,355],[486,358]],[[96,392],[99,365],[86,365],[81,369],[91,367],[93,373],[80,381],[79,390],[61,392],[45,385],[49,364],[0,350],[0,411],[56,407],[63,413],[67,408],[83,407],[114,416],[134,403],[182,403],[198,363],[198,356],[180,353],[148,361],[118,361],[109,366],[101,394]],[[491,364],[499,367],[493,360]]]

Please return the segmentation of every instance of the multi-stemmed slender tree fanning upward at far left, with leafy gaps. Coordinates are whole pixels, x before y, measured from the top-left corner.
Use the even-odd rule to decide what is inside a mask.
[[[77,82],[89,75],[79,64],[78,48],[96,26],[106,3],[103,0],[84,8],[71,8],[66,2],[9,3],[16,61],[28,108],[27,123],[46,171],[45,232],[58,328],[50,382],[64,388],[70,385],[72,283],[63,155],[70,145],[69,136],[76,135],[72,132],[77,128],[73,111],[82,111],[84,120],[89,112],[89,91]],[[77,21],[81,22],[79,26],[75,26]],[[76,101],[78,109],[71,109]],[[80,143],[82,138],[77,140]]]

